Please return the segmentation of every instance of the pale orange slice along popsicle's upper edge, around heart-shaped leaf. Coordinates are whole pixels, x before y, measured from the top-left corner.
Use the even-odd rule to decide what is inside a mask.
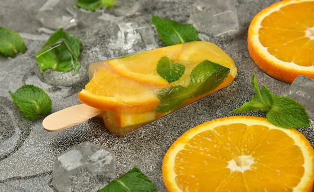
[[[185,74],[176,84],[186,85],[190,80],[190,73],[200,62],[210,60],[230,69],[232,79],[237,74],[237,68],[231,57],[217,45],[207,41],[194,41],[150,51],[136,53],[109,60],[109,66],[122,76],[139,82],[158,85],[169,84],[156,71],[156,64],[162,57],[185,65]],[[139,66],[142,65],[142,66]]]

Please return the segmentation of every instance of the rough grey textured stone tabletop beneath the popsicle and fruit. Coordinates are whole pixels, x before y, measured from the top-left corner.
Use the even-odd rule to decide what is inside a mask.
[[[68,3],[75,1],[68,1]],[[150,24],[150,14],[187,22],[193,1],[147,1],[141,15]],[[82,41],[81,74],[67,86],[53,86],[42,81],[35,54],[50,34],[43,33],[42,24],[36,18],[40,0],[2,0],[0,26],[22,35],[27,51],[15,58],[0,55],[0,191],[55,191],[52,187],[52,168],[55,157],[73,145],[84,141],[106,147],[116,154],[116,176],[121,176],[133,166],[139,167],[156,185],[158,191],[166,191],[162,178],[163,157],[171,144],[190,128],[209,120],[233,116],[230,111],[241,106],[254,94],[250,83],[253,73],[259,84],[265,84],[276,95],[282,94],[289,84],[264,74],[250,58],[247,50],[247,29],[253,16],[274,0],[234,0],[238,10],[239,30],[218,37],[205,33],[200,39],[211,41],[224,49],[235,61],[238,75],[226,88],[209,95],[184,109],[154,121],[128,135],[118,137],[106,130],[102,119],[93,118],[73,128],[49,133],[43,130],[42,120],[31,122],[24,118],[13,103],[9,90],[16,91],[23,84],[35,84],[43,88],[52,99],[51,112],[80,104],[77,93],[88,82],[87,68],[92,62],[121,56],[108,48],[110,36],[104,30],[107,21],[96,16],[101,13],[82,13],[84,21],[65,31],[77,35]],[[98,15],[97,15],[98,14]],[[114,13],[112,13],[114,14]],[[159,46],[164,46],[156,35]],[[264,116],[252,112],[246,115]],[[298,129],[314,146],[314,123]]]

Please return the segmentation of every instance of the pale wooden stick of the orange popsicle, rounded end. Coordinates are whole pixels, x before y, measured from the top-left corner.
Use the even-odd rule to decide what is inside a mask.
[[[72,106],[50,114],[43,120],[43,127],[49,132],[58,132],[87,121],[103,111],[85,104]]]

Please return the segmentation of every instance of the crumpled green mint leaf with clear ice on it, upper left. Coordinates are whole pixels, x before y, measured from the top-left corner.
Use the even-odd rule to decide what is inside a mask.
[[[63,32],[61,28],[55,32],[45,43],[43,49],[36,53],[36,60],[40,70],[45,73],[47,69],[62,71],[73,70],[75,75],[81,67],[78,60],[81,41],[73,34]]]

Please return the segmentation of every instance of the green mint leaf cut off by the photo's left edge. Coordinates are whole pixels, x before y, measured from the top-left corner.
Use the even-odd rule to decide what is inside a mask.
[[[15,57],[18,53],[25,53],[25,50],[24,40],[17,32],[0,27],[0,53]]]

